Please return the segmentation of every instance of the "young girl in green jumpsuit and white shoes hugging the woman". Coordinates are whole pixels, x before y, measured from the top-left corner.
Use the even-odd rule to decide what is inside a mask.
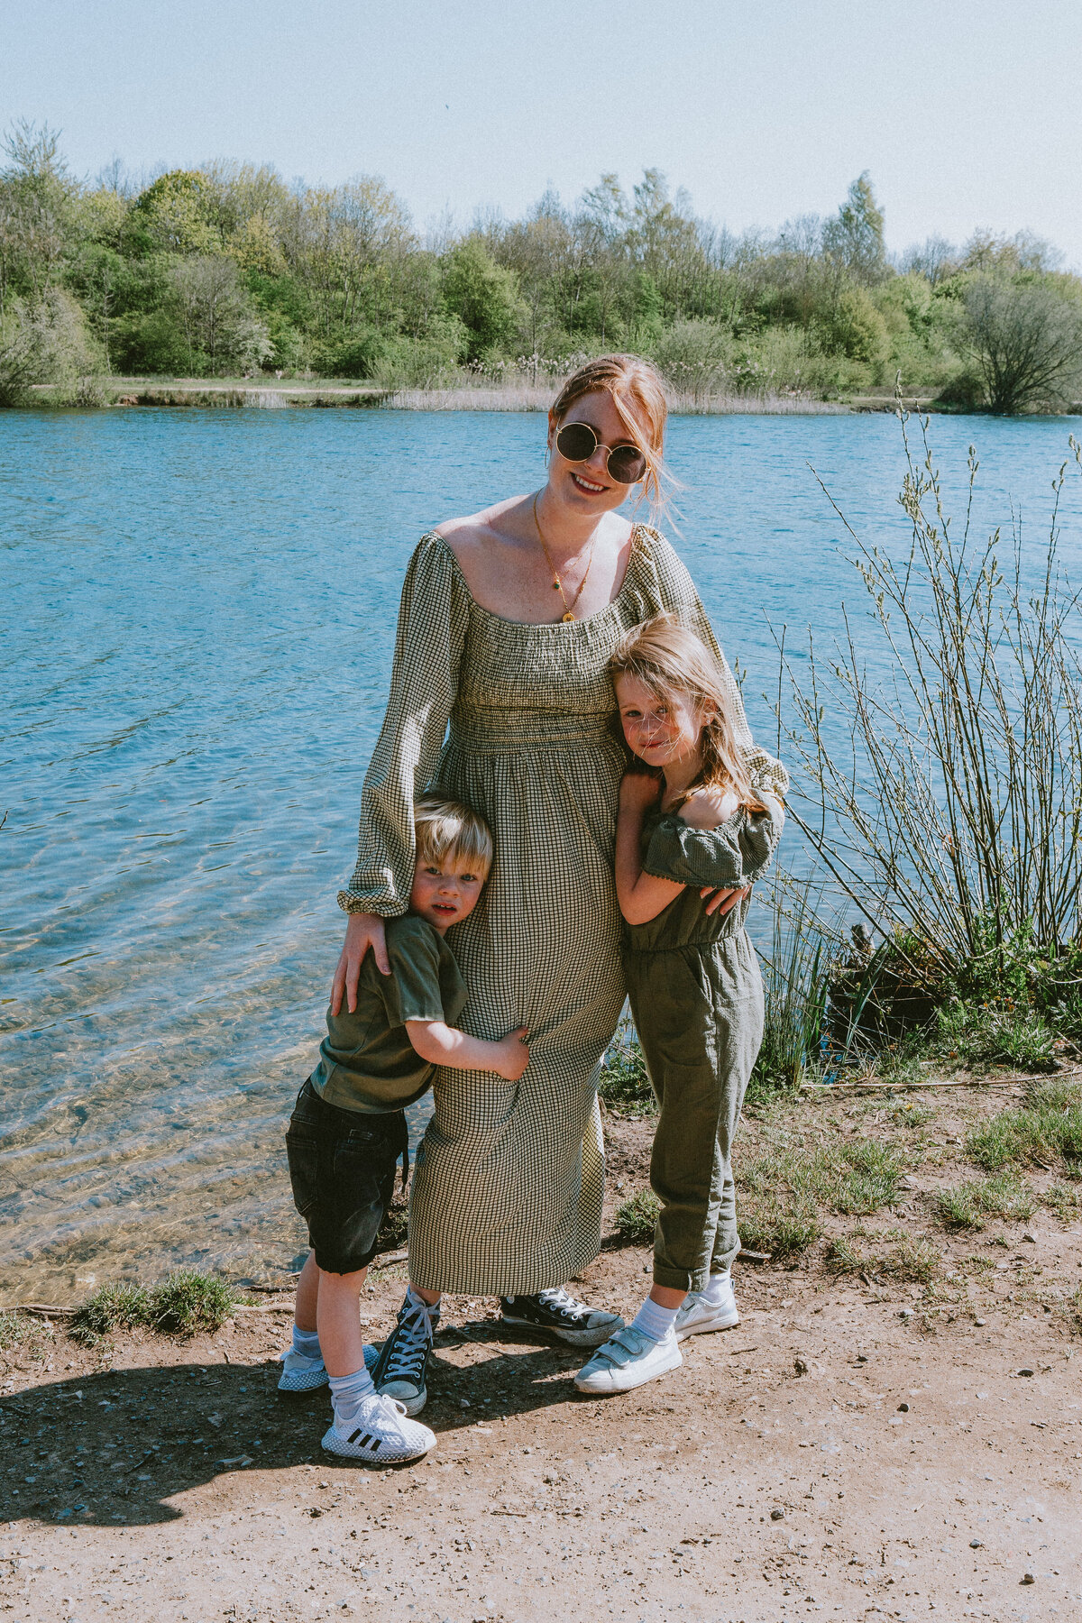
[[[662,1212],[649,1298],[576,1376],[594,1394],[676,1368],[685,1336],[740,1319],[730,1149],[762,1040],[745,917],[784,821],[780,802],[749,779],[722,675],[698,636],[659,615],[623,638],[610,670],[623,738],[647,768],[620,786],[616,894],[631,1013],[660,1105],[650,1186]],[[702,904],[719,888],[743,891],[727,912]]]

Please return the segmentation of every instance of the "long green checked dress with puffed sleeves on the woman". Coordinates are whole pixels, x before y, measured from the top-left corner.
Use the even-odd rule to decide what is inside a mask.
[[[472,805],[496,857],[477,909],[448,933],[469,993],[461,1026],[488,1039],[530,1032],[517,1083],[436,1071],[409,1220],[410,1277],[423,1289],[543,1290],[600,1250],[597,1076],[625,1000],[613,881],[623,753],[608,730],[607,665],[621,633],[662,610],[717,649],[688,571],[644,524],[620,596],[569,623],[482,609],[435,532],[410,560],[357,868],[339,904],[406,912],[414,799],[438,787]],[[784,768],[753,747],[723,659],[722,669],[753,773],[784,792]]]

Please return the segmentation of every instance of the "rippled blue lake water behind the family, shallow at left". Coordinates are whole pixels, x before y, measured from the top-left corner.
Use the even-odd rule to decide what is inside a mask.
[[[938,419],[947,492],[1037,550],[1079,420]],[[65,1300],[303,1246],[284,1165],[378,730],[397,591],[441,518],[540,477],[516,414],[0,414],[0,1290]],[[672,531],[753,727],[860,605],[842,526],[902,549],[891,417],[685,417]],[[1063,552],[1082,550],[1082,480]],[[955,508],[959,503],[955,502]],[[1077,575],[1077,568],[1074,570]]]

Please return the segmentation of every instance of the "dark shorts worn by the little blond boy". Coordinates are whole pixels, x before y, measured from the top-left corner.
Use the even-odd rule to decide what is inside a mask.
[[[311,1079],[300,1089],[286,1133],[289,1180],[324,1272],[355,1274],[368,1266],[407,1151],[404,1110],[339,1110],[320,1099]]]

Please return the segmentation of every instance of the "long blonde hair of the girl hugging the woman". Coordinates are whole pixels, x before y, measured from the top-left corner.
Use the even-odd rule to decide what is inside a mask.
[[[688,787],[685,800],[694,789],[717,786],[732,789],[749,812],[766,812],[736,743],[722,672],[694,631],[675,615],[659,613],[621,636],[608,661],[608,674],[613,683],[616,677],[634,677],[662,704],[672,704],[673,698],[688,700],[706,717],[699,734],[702,771]]]

